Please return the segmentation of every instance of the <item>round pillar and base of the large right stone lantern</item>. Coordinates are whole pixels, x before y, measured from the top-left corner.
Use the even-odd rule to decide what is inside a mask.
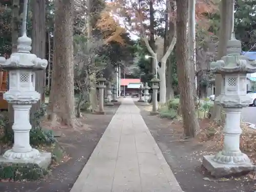
[[[213,156],[203,157],[203,166],[215,177],[247,173],[255,169],[248,156],[240,151],[240,118],[242,108],[224,108],[226,124],[224,127],[223,150]]]

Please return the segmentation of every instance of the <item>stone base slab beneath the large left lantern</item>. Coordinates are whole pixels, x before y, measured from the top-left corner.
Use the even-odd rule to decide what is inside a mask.
[[[5,156],[7,154],[15,155],[16,153],[11,152],[11,150],[8,150],[4,156],[0,156],[0,163],[33,163],[37,164],[39,167],[47,169],[52,161],[52,155],[51,153],[39,153],[37,150],[33,149],[31,153],[37,154],[35,158],[24,158],[24,159],[18,159],[18,158],[6,158]],[[24,153],[27,154],[27,153]],[[16,155],[22,156],[21,153],[17,153]],[[15,156],[16,156],[15,155]]]

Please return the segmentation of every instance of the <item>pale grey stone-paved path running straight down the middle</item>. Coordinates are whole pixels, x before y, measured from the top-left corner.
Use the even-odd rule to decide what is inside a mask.
[[[124,98],[70,192],[167,191],[182,189],[139,109]]]

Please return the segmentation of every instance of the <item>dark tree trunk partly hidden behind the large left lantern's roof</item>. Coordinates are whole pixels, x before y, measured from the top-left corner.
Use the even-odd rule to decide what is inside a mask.
[[[41,59],[46,57],[46,11],[45,1],[32,1],[32,53]],[[35,90],[41,94],[41,99],[32,105],[30,119],[39,110],[40,103],[45,102],[45,70],[35,72]]]

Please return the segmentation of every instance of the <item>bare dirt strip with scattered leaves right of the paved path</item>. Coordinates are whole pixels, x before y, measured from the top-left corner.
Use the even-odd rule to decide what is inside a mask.
[[[240,178],[215,179],[209,176],[201,166],[202,156],[214,154],[208,142],[199,143],[195,140],[181,140],[181,124],[177,121],[160,119],[158,116],[150,116],[144,111],[141,115],[160,147],[164,158],[172,169],[177,181],[184,192],[254,192],[256,182],[243,176]],[[204,122],[201,122],[203,126]]]

